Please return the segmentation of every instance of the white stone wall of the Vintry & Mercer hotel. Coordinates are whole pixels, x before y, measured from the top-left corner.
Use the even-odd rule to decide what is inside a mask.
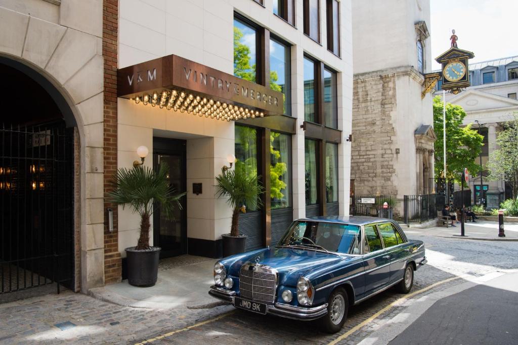
[[[252,0],[184,0],[120,2],[119,67],[176,54],[186,59],[233,74],[234,12],[266,27],[292,47],[292,114],[297,117],[293,136],[293,208],[294,217],[305,216],[304,194],[304,121],[303,56],[310,54],[324,61],[338,74],[340,214],[349,212],[350,144],[352,108],[352,26],[351,2],[341,2],[341,54],[338,58],[324,47],[325,2],[321,2],[321,42],[316,44],[303,32],[303,0],[296,1],[296,26],[272,13],[272,2],[265,7]],[[127,135],[123,134],[125,131]],[[151,108],[119,99],[119,166],[129,166],[136,147],[147,145],[152,151],[152,136],[187,140],[188,237],[219,239],[227,233],[231,212],[225,200],[214,196],[214,176],[234,153],[234,122],[194,117],[166,109]],[[151,164],[151,160],[146,160]],[[192,194],[193,182],[203,183],[203,194]],[[119,249],[136,242],[138,223],[127,211],[119,210]],[[123,253],[124,255],[124,253]]]

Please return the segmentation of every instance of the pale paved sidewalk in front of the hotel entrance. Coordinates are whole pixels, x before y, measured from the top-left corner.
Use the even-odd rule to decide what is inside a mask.
[[[151,287],[137,287],[127,280],[93,288],[89,295],[119,306],[155,310],[187,307],[204,308],[217,300],[208,295],[214,283],[212,270],[216,259],[182,255],[160,261],[158,280]]]

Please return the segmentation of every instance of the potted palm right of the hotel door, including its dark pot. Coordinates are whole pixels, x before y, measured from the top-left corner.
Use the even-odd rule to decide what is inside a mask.
[[[230,233],[224,234],[223,257],[244,252],[246,236],[239,234],[239,212],[246,212],[246,206],[256,209],[262,205],[259,196],[264,188],[258,183],[260,176],[247,174],[244,169],[222,169],[216,177],[218,197],[226,197],[232,208],[232,226]]]

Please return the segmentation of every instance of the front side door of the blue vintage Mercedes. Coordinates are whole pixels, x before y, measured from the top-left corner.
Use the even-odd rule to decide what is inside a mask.
[[[365,296],[389,283],[390,259],[375,224],[364,226]]]

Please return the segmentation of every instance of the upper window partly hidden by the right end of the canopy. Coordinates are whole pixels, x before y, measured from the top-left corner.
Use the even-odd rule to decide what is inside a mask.
[[[270,88],[282,92],[284,114],[291,114],[290,46],[270,39]]]

